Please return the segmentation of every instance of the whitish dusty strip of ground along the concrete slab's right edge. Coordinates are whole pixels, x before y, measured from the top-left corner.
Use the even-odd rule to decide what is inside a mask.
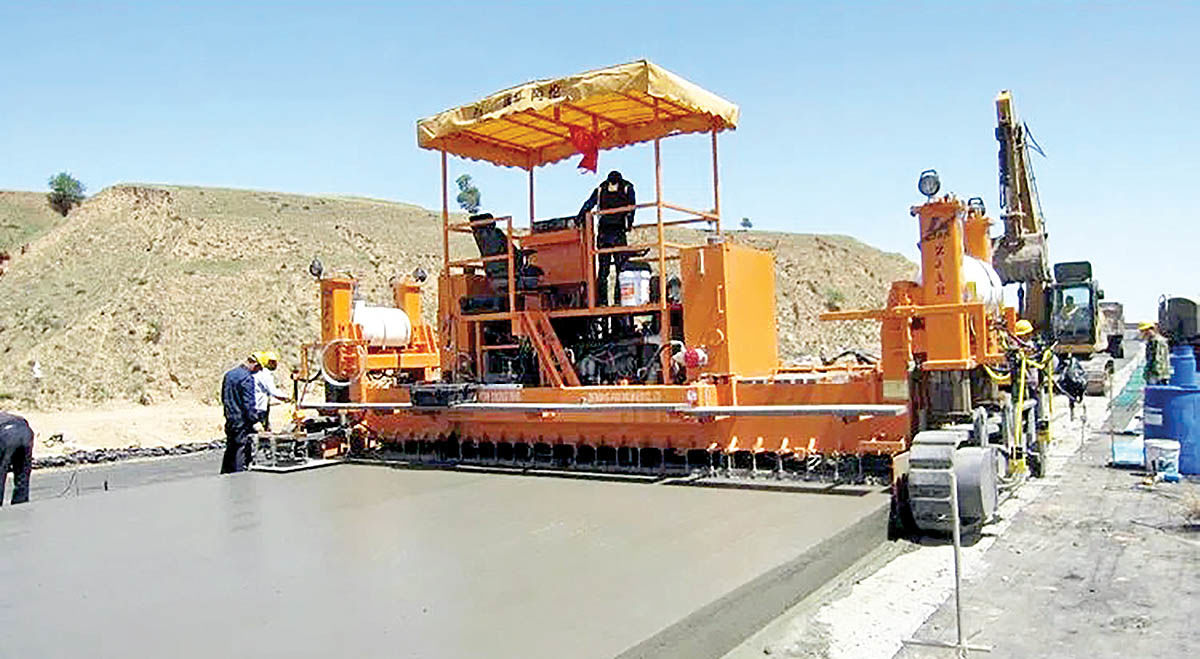
[[[1136,352],[1132,353],[1136,354]],[[1136,360],[1128,361],[1117,373],[1116,387],[1123,385],[1126,379],[1136,367]],[[1105,399],[1088,397],[1087,423],[1084,423],[1084,414],[1076,419],[1070,419],[1067,414],[1064,400],[1056,400],[1055,408],[1055,444],[1051,447],[1048,465],[1049,477],[1039,480],[1031,480],[1022,485],[1010,498],[1000,507],[1000,520],[989,525],[984,533],[973,539],[973,544],[962,550],[965,583],[968,583],[965,601],[974,601],[976,609],[968,609],[966,619],[968,625],[972,621],[978,621],[974,627],[970,627],[972,633],[978,633],[983,622],[980,621],[979,607],[992,610],[996,601],[994,591],[1003,588],[1013,598],[1014,603],[1022,601],[1028,588],[1038,588],[1039,581],[1021,580],[1004,561],[1013,559],[1024,565],[1024,571],[1030,570],[1031,556],[1040,556],[1039,543],[1032,543],[1030,534],[1034,537],[1043,533],[1030,531],[1031,525],[1038,520],[1037,513],[1027,513],[1026,509],[1038,510],[1048,503],[1060,502],[1062,492],[1069,491],[1078,497],[1080,508],[1067,510],[1063,514],[1084,514],[1094,509],[1088,508],[1088,502],[1097,497],[1093,485],[1097,477],[1082,478],[1076,473],[1080,468],[1081,457],[1090,456],[1093,451],[1100,451],[1104,462],[1108,459],[1108,435],[1094,435],[1104,424],[1108,417],[1109,401]],[[1085,445],[1085,437],[1103,437],[1100,442],[1093,439],[1086,443],[1087,451],[1080,453]],[[1130,479],[1128,472],[1116,472],[1114,478],[1127,483]],[[1087,484],[1080,487],[1080,483]],[[1127,483],[1128,484],[1128,483]],[[1046,497],[1046,493],[1055,493]],[[1058,523],[1063,523],[1060,521]],[[1060,531],[1070,535],[1070,525],[1066,525]],[[1160,533],[1146,529],[1147,533]],[[1013,539],[1009,539],[1013,537]],[[1003,543],[1000,540],[1003,539]],[[1103,551],[1094,547],[1096,551]],[[1022,558],[1024,555],[1024,558]],[[1094,563],[1094,558],[1092,559]],[[1000,586],[991,585],[996,581]],[[985,585],[985,586],[980,586]],[[1019,586],[1028,586],[1019,587]],[[902,649],[902,641],[911,637],[953,640],[953,629],[947,630],[944,624],[938,624],[938,616],[946,616],[947,603],[954,589],[953,550],[944,541],[926,540],[920,544],[907,541],[894,543],[883,551],[877,552],[874,561],[863,563],[852,569],[847,576],[832,583],[823,593],[817,593],[808,600],[800,603],[792,611],[779,618],[775,623],[749,639],[728,659],[746,659],[750,657],[812,657],[828,659],[887,659],[896,655]],[[1169,597],[1170,591],[1164,591],[1163,597]],[[1022,594],[1025,593],[1025,594]],[[986,603],[986,604],[984,604]],[[1015,604],[1014,604],[1015,605]],[[1033,624],[1046,621],[1046,615],[1056,606],[1072,606],[1074,603],[1048,604],[1050,609],[1033,610],[1016,606],[1026,622]],[[953,610],[949,610],[953,612]],[[931,618],[932,617],[932,618]],[[953,617],[949,618],[953,621]],[[929,622],[926,622],[929,621]],[[1027,631],[1013,629],[1009,634],[1015,636],[1027,635]],[[983,641],[972,637],[973,642]],[[906,651],[907,652],[907,651]],[[904,654],[904,657],[946,657],[949,651],[932,649],[922,654]],[[1068,654],[1046,654],[1045,652],[1030,651],[1016,654],[996,654],[992,657],[1058,657]]]

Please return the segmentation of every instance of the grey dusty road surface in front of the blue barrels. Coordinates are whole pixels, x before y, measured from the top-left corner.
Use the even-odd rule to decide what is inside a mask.
[[[992,647],[986,657],[1194,657],[1200,525],[1186,509],[1200,486],[1147,487],[1145,474],[1109,467],[1109,455],[1108,435],[1093,433],[965,585],[966,634]],[[916,635],[952,641],[953,600]]]

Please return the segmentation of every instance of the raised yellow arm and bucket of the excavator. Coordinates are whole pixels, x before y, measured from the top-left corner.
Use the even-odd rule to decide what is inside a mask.
[[[1020,314],[1045,330],[1049,324],[1045,289],[1054,278],[1026,133],[1013,107],[1013,94],[1001,91],[996,96],[996,140],[1000,142],[1000,205],[1004,235],[996,245],[992,266],[1004,283],[1025,284]]]

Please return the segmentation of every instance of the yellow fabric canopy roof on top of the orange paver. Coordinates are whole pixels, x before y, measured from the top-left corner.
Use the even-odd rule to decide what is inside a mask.
[[[738,107],[648,60],[534,80],[416,122],[422,149],[532,169],[581,152],[576,132],[600,149],[679,133],[724,131]],[[583,137],[583,139],[589,139]]]

